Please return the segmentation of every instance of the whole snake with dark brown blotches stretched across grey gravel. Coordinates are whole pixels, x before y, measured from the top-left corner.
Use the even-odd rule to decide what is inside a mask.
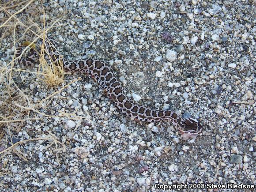
[[[196,136],[202,133],[203,126],[195,118],[182,118],[171,110],[153,110],[132,100],[132,98],[125,94],[123,87],[117,79],[117,75],[115,75],[111,66],[105,61],[92,58],[67,60],[58,53],[54,38],[50,37],[44,44],[41,42],[42,40],[39,40],[37,44],[32,44],[30,41],[24,41],[22,44],[18,44],[15,53],[18,62],[23,65],[37,63],[39,53],[41,53],[41,49],[44,49],[44,52],[48,53],[48,59],[52,60],[53,64],[61,66],[65,72],[79,72],[90,75],[105,90],[117,108],[126,116],[148,123],[170,120],[173,125],[176,125],[177,130],[184,138],[195,139]],[[25,52],[24,49],[29,44],[29,51],[23,54]],[[35,46],[31,46],[31,44]],[[36,50],[36,47],[38,47],[38,50]]]

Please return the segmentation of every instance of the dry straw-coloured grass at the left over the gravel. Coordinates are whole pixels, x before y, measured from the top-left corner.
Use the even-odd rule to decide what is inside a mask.
[[[59,8],[58,5],[56,6]],[[45,11],[42,3],[36,4],[34,0],[0,0],[0,14],[4,15],[3,17],[0,15],[0,43],[3,42],[4,39],[8,39],[8,41],[11,39],[12,43],[5,45],[5,47],[9,46],[9,49],[11,49],[11,47],[15,47],[16,43],[21,43],[26,40],[23,42],[23,45],[26,45],[26,49],[23,51],[23,54],[25,54],[26,50],[37,50],[36,42],[39,39],[43,42],[41,48],[44,47],[45,41],[48,41],[48,32],[61,26],[60,21],[65,17],[66,12],[64,12],[63,15],[54,17],[52,16],[54,14]],[[0,47],[3,47],[3,45],[0,44]],[[49,105],[53,96],[59,94],[61,90],[75,81],[37,103],[30,98],[31,91],[28,90],[27,87],[22,89],[15,82],[14,74],[18,74],[22,77],[21,74],[26,73],[31,73],[34,78],[37,77],[41,79],[42,83],[44,82],[48,87],[56,87],[63,82],[63,69],[45,60],[45,54],[48,53],[45,53],[43,49],[41,50],[42,51],[38,53],[40,64],[37,72],[33,72],[33,69],[32,71],[20,69],[19,64],[17,64],[19,58],[13,58],[8,63],[1,63],[0,61],[0,85],[3,87],[0,88],[0,159],[2,159],[4,167],[7,165],[7,159],[4,157],[10,153],[15,153],[23,160],[28,161],[26,154],[23,154],[16,146],[37,140],[49,140],[51,143],[48,147],[55,144],[56,160],[59,163],[57,153],[65,150],[64,143],[60,143],[58,138],[51,132],[48,132],[46,135],[43,134],[41,138],[27,139],[13,143],[13,136],[17,134],[27,122],[41,120],[42,118],[63,116],[81,119],[81,117],[77,117],[75,114],[62,113],[60,111],[60,115],[57,116],[46,115],[38,111],[38,108],[42,107],[43,103]],[[47,105],[44,107],[47,107]],[[42,117],[31,118],[31,112],[33,112],[35,116],[41,114]],[[38,133],[38,135],[42,135],[42,133]],[[8,147],[8,143],[10,143],[11,147]],[[59,145],[60,148],[58,148]],[[5,172],[0,172],[0,174],[1,173],[3,174]]]

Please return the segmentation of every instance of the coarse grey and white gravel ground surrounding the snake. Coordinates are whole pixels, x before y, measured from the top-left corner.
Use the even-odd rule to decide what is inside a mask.
[[[28,161],[14,152],[1,158],[0,191],[155,191],[155,183],[201,183],[192,186],[195,191],[218,191],[206,189],[207,183],[224,184],[222,191],[233,191],[228,183],[256,184],[255,1],[59,0],[43,5],[46,21],[67,11],[59,22],[64,25],[47,34],[66,58],[108,61],[139,103],[198,118],[204,131],[191,142],[168,122],[151,126],[130,120],[82,74],[66,75],[51,88],[34,73],[13,72],[31,103],[82,79],[42,102],[36,109],[41,114],[26,113],[39,120],[13,123],[19,125],[19,132],[11,130],[13,143],[49,133],[60,143],[45,139],[17,145]],[[0,42],[1,68],[13,56],[12,38]],[[0,90],[7,86],[2,78]],[[58,111],[73,116],[42,115],[58,116]],[[10,147],[4,134],[0,151]]]

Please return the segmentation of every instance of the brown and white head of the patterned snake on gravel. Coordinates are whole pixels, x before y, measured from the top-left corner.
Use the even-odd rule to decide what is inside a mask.
[[[203,132],[203,126],[196,119],[183,119],[182,125],[183,126],[179,128],[179,132],[185,139],[196,139],[196,136]]]

